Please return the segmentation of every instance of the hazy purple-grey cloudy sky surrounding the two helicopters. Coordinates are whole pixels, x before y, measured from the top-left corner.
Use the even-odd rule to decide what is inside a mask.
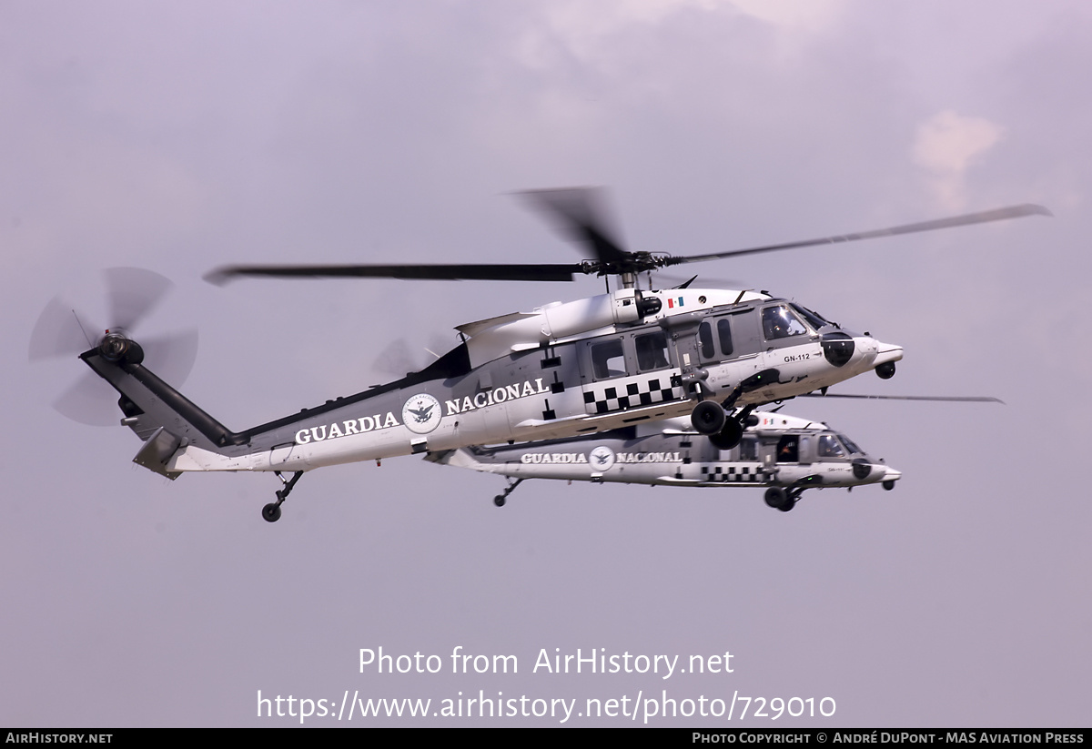
[[[298,724],[256,717],[259,690],[578,711],[738,690],[836,713],[652,725],[1088,725],[1090,50],[1078,0],[0,3],[0,724]],[[397,338],[602,287],[201,275],[570,262],[506,193],[574,185],[612,189],[633,249],[678,253],[1047,205],[701,269],[905,347],[846,391],[1008,405],[790,404],[904,474],[790,514],[534,482],[498,510],[498,477],[406,457],[308,474],[270,525],[272,475],[167,482],[128,429],[51,409],[79,361],[26,362],[55,294],[98,314],[99,271],[138,265],[177,284],[138,332],[200,329],[182,390],[227,426],[357,392]],[[443,673],[359,673],[380,646]],[[455,646],[519,673],[453,675]],[[734,673],[532,673],[543,649],[729,651]]]

